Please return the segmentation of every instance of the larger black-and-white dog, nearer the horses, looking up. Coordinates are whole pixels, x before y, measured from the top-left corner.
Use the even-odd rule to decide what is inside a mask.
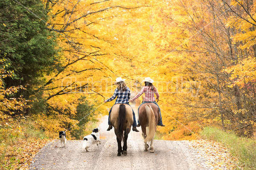
[[[99,141],[99,128],[95,128],[93,129],[93,133],[91,133],[90,135],[84,136],[84,143],[83,143],[83,149],[85,149],[87,152],[90,152],[88,150],[88,148],[97,143],[97,145],[100,144]]]

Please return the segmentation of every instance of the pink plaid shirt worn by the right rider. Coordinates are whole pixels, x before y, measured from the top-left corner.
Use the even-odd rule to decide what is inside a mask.
[[[154,98],[154,94],[156,94],[157,99],[159,99],[159,94],[157,92],[157,88],[154,87],[154,91],[151,90],[151,87],[149,86],[144,86],[140,93],[138,93],[134,98],[131,99],[131,102],[133,102],[135,99],[140,97],[143,93],[145,93],[145,99],[144,102],[155,102],[156,99]]]

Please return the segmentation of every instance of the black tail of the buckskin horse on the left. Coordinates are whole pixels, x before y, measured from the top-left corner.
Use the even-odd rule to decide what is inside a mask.
[[[124,137],[124,133],[123,133],[123,126],[125,125],[125,115],[126,115],[126,109],[125,109],[125,105],[120,105],[119,106],[119,119],[118,119],[118,134],[116,135],[116,137],[122,141],[123,137]]]

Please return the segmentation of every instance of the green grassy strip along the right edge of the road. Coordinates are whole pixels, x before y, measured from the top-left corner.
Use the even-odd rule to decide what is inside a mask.
[[[256,140],[239,137],[234,133],[227,133],[216,127],[205,127],[201,136],[208,140],[221,142],[230,153],[239,159],[244,170],[256,170]]]

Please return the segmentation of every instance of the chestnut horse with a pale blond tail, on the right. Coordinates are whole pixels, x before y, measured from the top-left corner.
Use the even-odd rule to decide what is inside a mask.
[[[147,142],[151,141],[150,152],[154,153],[154,136],[157,131],[157,123],[160,121],[160,113],[157,105],[154,103],[144,103],[139,108],[139,117],[141,125],[142,136],[145,143],[145,151],[148,151]],[[148,127],[148,135],[146,133],[146,127]]]

